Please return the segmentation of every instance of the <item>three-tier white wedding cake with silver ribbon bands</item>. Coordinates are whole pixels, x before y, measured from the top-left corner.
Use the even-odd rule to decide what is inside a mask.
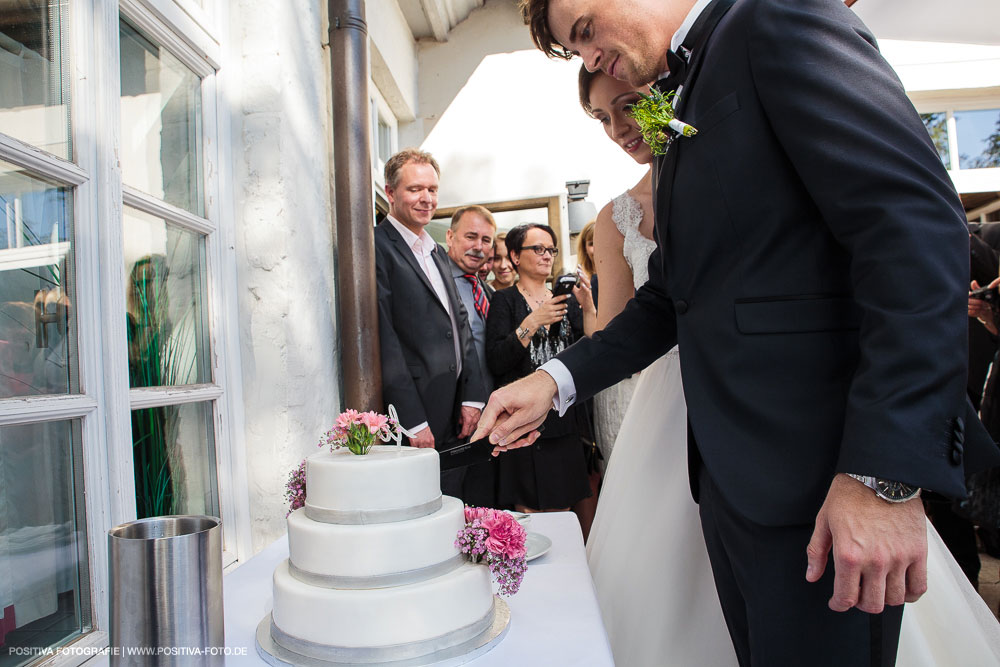
[[[441,495],[439,474],[434,449],[307,459],[305,507],[288,516],[289,558],[258,629],[265,659],[424,664],[502,634],[506,605],[489,570],[456,548],[464,507]]]

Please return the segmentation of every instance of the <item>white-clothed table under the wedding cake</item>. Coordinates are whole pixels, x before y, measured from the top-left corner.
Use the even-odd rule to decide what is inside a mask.
[[[583,535],[572,512],[533,514],[531,532],[552,540],[545,555],[528,564],[510,605],[510,629],[493,650],[467,663],[473,667],[518,665],[614,665],[587,567]],[[246,655],[230,655],[227,665],[266,665],[254,643],[257,624],[271,610],[271,574],[288,557],[281,537],[223,580],[226,645]]]

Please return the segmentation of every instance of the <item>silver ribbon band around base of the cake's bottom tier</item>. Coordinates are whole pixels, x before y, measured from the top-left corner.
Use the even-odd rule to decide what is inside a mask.
[[[422,658],[439,651],[449,650],[449,652],[454,652],[466,644],[471,648],[483,635],[492,629],[495,608],[495,603],[491,604],[490,610],[485,616],[457,630],[452,630],[438,637],[416,642],[406,642],[405,644],[378,647],[346,647],[317,644],[286,634],[274,624],[273,617],[271,618],[271,639],[279,646],[293,653],[317,660],[355,665],[377,665],[386,662]]]

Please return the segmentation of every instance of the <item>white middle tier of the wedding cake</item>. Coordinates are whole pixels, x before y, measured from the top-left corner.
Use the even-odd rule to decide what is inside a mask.
[[[451,496],[444,496],[441,509],[433,514],[371,525],[321,523],[299,509],[288,516],[288,555],[295,569],[328,579],[324,583],[316,577],[300,577],[316,585],[398,585],[434,576],[435,566],[453,566],[452,561],[459,558],[455,538],[464,525],[462,501]],[[362,581],[351,581],[358,578]],[[366,578],[374,581],[363,581]]]

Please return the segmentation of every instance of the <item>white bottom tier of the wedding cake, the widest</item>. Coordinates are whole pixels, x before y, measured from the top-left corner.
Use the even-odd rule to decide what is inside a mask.
[[[479,626],[491,622],[492,609],[485,565],[463,563],[426,581],[368,590],[305,584],[290,574],[288,561],[274,571],[272,620],[288,642],[345,649],[434,646],[432,640],[438,638],[459,643],[467,639],[465,634],[481,632]],[[301,647],[288,648],[301,652]]]

